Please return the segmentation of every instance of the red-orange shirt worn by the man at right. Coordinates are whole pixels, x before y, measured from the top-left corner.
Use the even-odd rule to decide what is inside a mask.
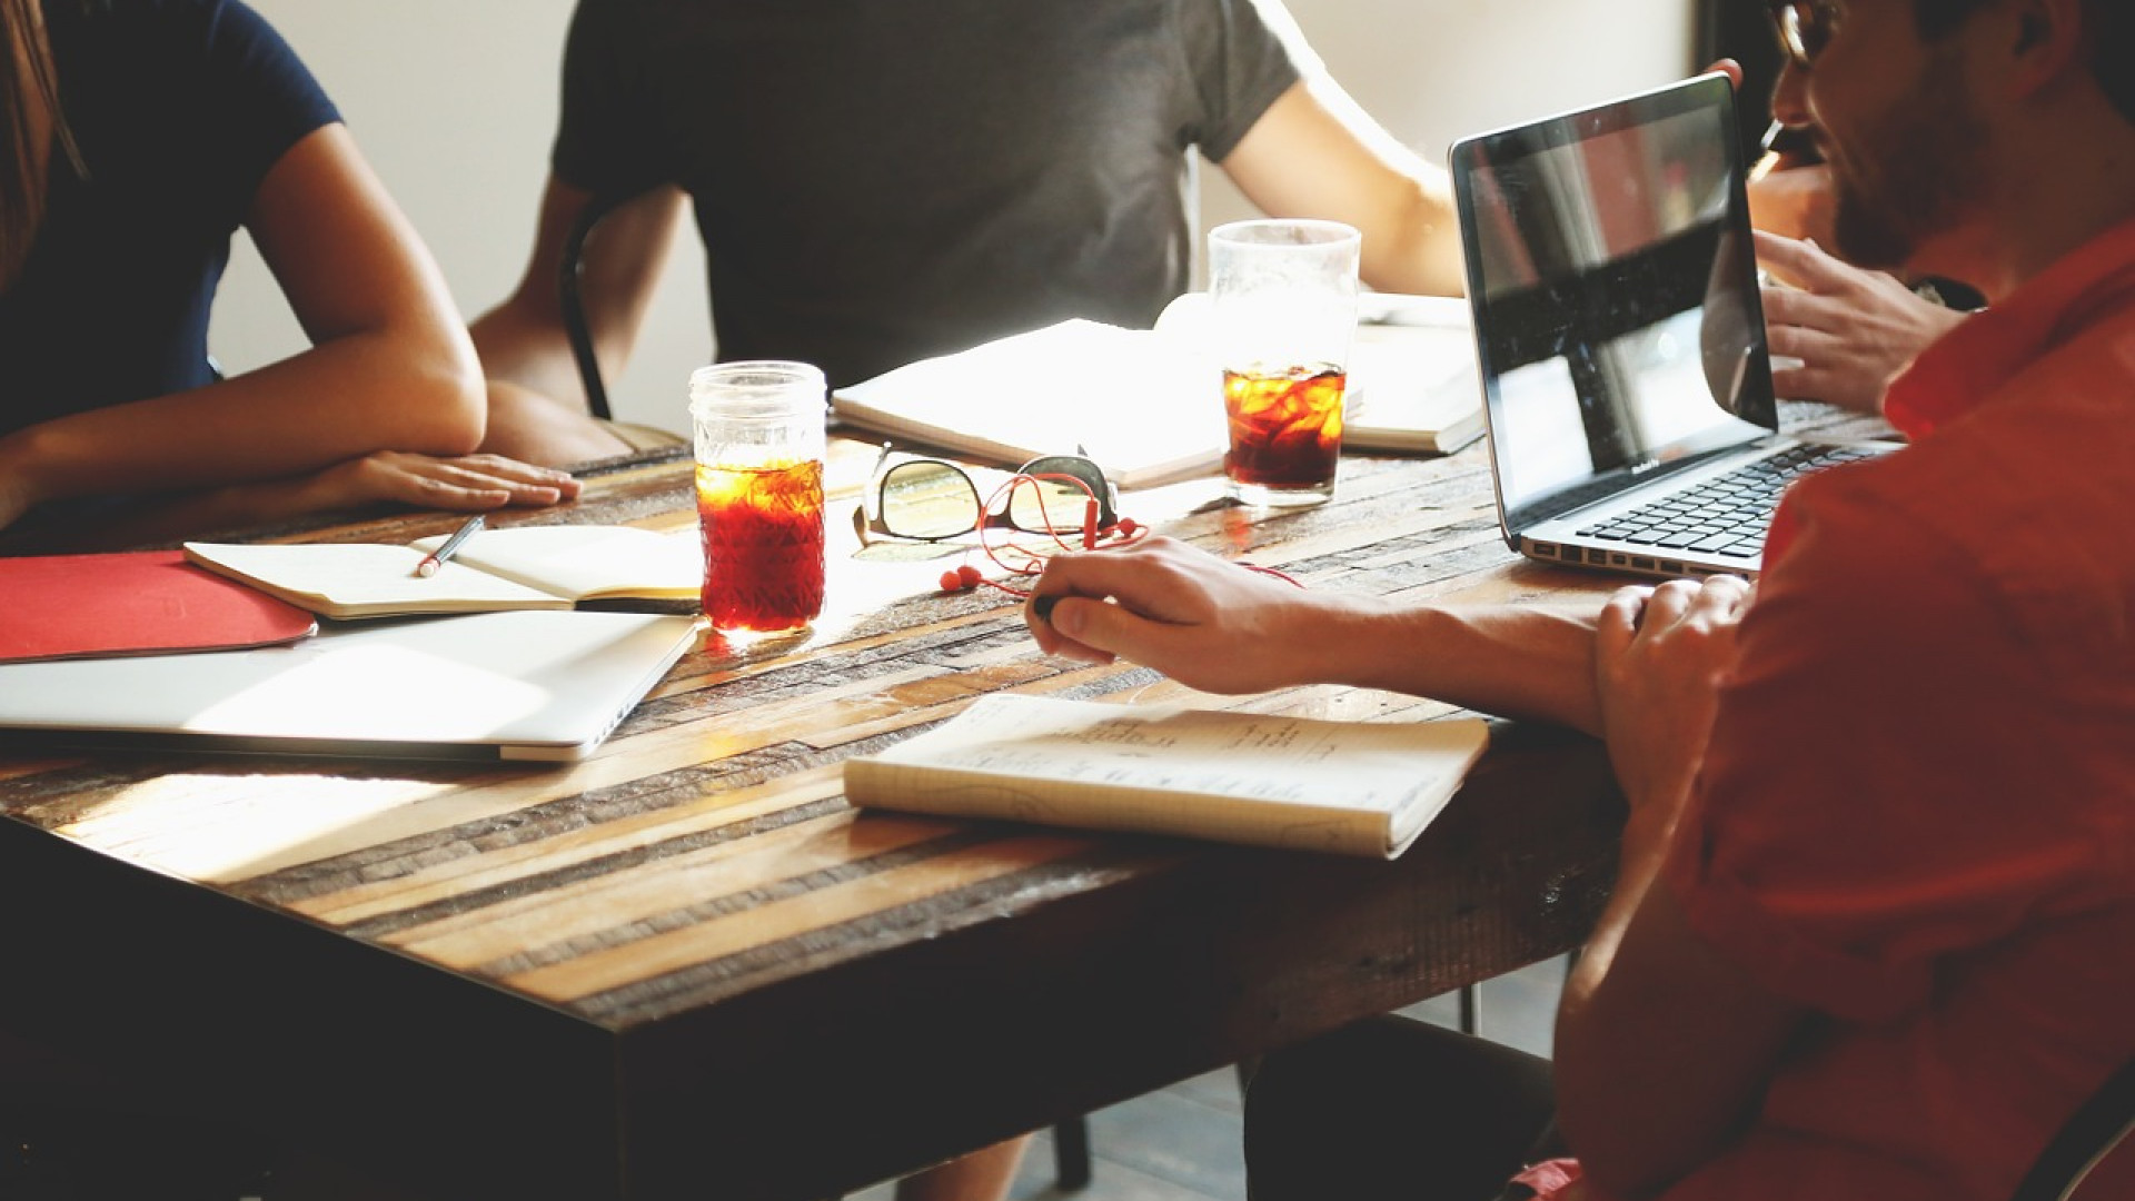
[[[1667,1201],[2003,1201],[2135,1054],[2135,222],[1887,412],[1781,506],[1665,874],[1817,1017]]]

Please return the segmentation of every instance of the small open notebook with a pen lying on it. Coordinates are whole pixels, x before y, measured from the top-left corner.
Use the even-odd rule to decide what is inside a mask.
[[[705,583],[696,530],[519,526],[480,530],[438,568],[414,573],[444,543],[241,545],[186,543],[186,558],[322,618],[404,618],[572,609],[583,600],[694,600]]]

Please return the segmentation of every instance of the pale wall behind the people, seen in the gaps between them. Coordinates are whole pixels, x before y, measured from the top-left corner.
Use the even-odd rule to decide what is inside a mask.
[[[474,316],[502,299],[534,237],[572,0],[252,4],[342,105],[461,310]],[[1435,162],[1465,132],[1663,83],[1691,66],[1689,0],[1290,0],[1290,9],[1334,77]],[[1202,207],[1208,224],[1245,212],[1217,171],[1204,173]],[[239,246],[216,306],[216,355],[246,370],[301,346],[271,276]],[[617,415],[681,430],[685,380],[709,357],[705,263],[685,237],[630,372],[611,380]]]

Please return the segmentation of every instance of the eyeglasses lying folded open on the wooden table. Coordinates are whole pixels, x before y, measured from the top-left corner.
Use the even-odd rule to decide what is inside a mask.
[[[1112,483],[1085,455],[1035,457],[991,498],[982,498],[978,483],[956,464],[944,459],[888,464],[888,455],[890,449],[884,447],[875,459],[873,485],[860,502],[863,536],[873,532],[939,543],[999,528],[1080,536],[1119,526]]]

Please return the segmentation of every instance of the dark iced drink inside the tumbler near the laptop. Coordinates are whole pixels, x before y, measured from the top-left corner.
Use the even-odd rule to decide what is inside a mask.
[[[1347,376],[1328,363],[1223,372],[1223,472],[1247,504],[1315,504],[1334,494]]]

